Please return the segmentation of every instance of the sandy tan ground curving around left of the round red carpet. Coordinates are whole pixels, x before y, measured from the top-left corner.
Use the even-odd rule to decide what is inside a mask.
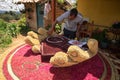
[[[0,49],[0,80],[5,80],[4,78],[4,74],[2,71],[2,66],[3,66],[3,61],[5,59],[5,57],[7,56],[7,54],[13,50],[14,48],[16,48],[18,45],[24,44],[24,39],[25,36],[23,35],[19,35],[17,38],[13,38],[13,43],[9,45],[9,47],[4,48],[4,49]],[[109,52],[109,51],[108,51]],[[106,52],[107,53],[107,52]],[[111,54],[105,54],[107,56],[111,57]],[[112,54],[112,58],[114,59],[114,54]],[[117,60],[116,60],[117,61]],[[119,61],[118,61],[119,62]]]

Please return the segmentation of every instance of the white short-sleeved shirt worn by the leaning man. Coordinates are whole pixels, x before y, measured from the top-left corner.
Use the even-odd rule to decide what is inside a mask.
[[[64,20],[64,28],[69,31],[76,31],[77,24],[81,24],[83,22],[82,15],[78,14],[74,20],[69,20],[68,17],[70,15],[70,11],[65,12],[61,16],[59,16],[56,20],[58,22],[62,22]]]

